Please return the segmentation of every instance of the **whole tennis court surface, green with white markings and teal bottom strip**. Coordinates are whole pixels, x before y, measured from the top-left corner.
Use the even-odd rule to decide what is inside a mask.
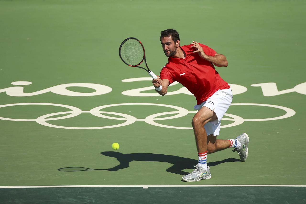
[[[0,0],[2,203],[305,203],[304,1]],[[197,151],[196,104],[157,96],[125,65],[136,37],[155,74],[160,31],[224,54],[234,92],[218,138],[246,132],[246,162],[209,154],[212,178],[183,182]],[[112,143],[120,149],[114,151]]]

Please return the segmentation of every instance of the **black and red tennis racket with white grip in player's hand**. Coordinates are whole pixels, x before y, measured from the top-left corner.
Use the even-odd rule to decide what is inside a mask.
[[[157,79],[157,76],[147,65],[144,46],[138,39],[132,37],[125,39],[119,47],[119,56],[125,64],[144,69],[153,79]],[[139,66],[143,61],[146,63],[147,69]],[[162,85],[157,90],[162,90]]]

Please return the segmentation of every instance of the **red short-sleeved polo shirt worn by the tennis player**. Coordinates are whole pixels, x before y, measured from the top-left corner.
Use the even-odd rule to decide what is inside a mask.
[[[200,43],[199,43],[200,44]],[[185,52],[185,59],[169,57],[169,62],[160,72],[161,79],[168,79],[169,85],[174,81],[181,83],[190,91],[197,100],[197,104],[203,103],[219,89],[229,89],[226,83],[215,70],[211,62],[201,58],[194,47],[184,45],[181,49]],[[206,55],[215,56],[216,51],[200,44]]]

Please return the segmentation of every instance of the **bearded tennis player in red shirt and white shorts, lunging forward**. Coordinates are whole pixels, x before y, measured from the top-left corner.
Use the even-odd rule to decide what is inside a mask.
[[[198,110],[192,119],[196,138],[199,162],[195,170],[184,176],[184,181],[210,179],[211,172],[207,166],[207,154],[234,147],[241,161],[248,157],[249,138],[246,133],[236,139],[217,139],[221,118],[229,108],[233,95],[230,85],[215,70],[215,66],[227,66],[226,57],[210,47],[192,41],[190,45],[180,46],[180,36],[174,29],[161,32],[160,42],[168,57],[168,63],[160,72],[160,77],[152,81],[156,91],[164,96],[168,86],[174,81],[184,85],[194,94]],[[162,89],[159,90],[159,86]]]

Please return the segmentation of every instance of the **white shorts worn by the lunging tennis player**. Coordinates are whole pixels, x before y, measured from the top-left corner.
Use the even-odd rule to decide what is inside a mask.
[[[220,120],[227,111],[227,109],[230,107],[232,99],[233,94],[231,89],[219,89],[206,101],[194,106],[195,110],[200,110],[203,106],[206,106],[207,108],[214,111],[218,117],[218,119],[208,122],[204,125],[207,135],[219,135],[221,127]]]

